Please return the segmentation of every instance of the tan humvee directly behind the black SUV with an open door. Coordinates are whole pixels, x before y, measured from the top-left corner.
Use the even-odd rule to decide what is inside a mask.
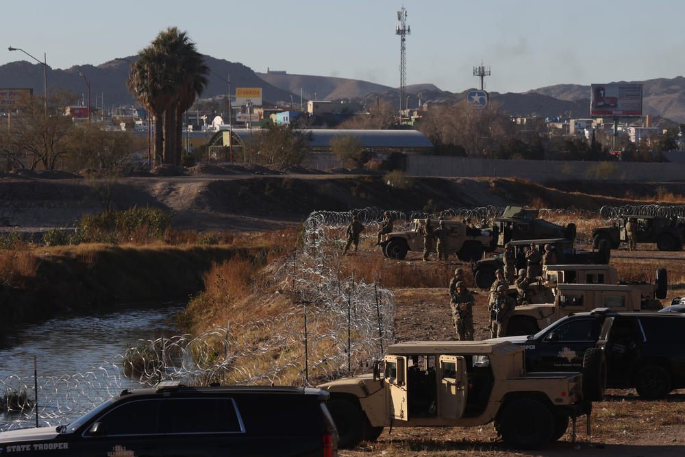
[[[507,325],[507,336],[531,335],[572,312],[595,308],[612,311],[660,310],[666,297],[665,270],[656,284],[556,284],[554,301],[516,306]]]

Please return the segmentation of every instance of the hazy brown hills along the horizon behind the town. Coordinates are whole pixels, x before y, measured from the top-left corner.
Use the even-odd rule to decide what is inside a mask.
[[[238,62],[204,56],[210,67],[208,86],[203,98],[224,96],[228,92],[227,77],[231,76],[232,90],[238,87],[261,87],[262,98],[266,102],[299,104],[300,93],[303,101],[309,99],[342,100],[350,99],[364,103],[373,99],[387,100],[399,107],[399,90],[360,79],[341,77],[290,75],[282,73],[255,73]],[[136,56],[126,59],[135,60]],[[133,97],[126,88],[129,62],[110,60],[98,66],[72,66],[69,69],[52,69],[48,66],[49,88],[66,88],[88,97],[88,88],[79,71],[91,82],[91,103],[93,106],[135,105]],[[657,114],[677,122],[685,123],[685,77],[672,79],[649,79],[644,85],[644,112]],[[43,69],[40,64],[25,60],[10,62],[0,66],[0,88],[33,88],[34,93],[42,94]],[[412,84],[407,86],[409,107],[415,109],[425,101],[442,100],[457,103],[466,98],[466,92],[440,90],[434,84]],[[470,90],[470,89],[469,89]],[[490,92],[490,101],[515,116],[535,114],[547,116],[588,117],[590,115],[590,86],[580,84],[557,84],[529,90],[523,93]],[[403,105],[406,101],[403,101]]]

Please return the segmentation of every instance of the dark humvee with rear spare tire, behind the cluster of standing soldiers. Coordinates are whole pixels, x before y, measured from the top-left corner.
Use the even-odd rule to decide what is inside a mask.
[[[611,257],[611,247],[608,243],[602,243],[597,251],[579,252],[573,248],[573,241],[568,238],[547,238],[538,240],[518,240],[508,243],[514,249],[516,256],[516,270],[527,267],[525,253],[530,245],[545,254],[545,245],[551,245],[556,253],[557,264],[608,264]],[[497,257],[479,260],[473,264],[473,276],[476,286],[489,288],[495,282],[495,272],[504,267],[501,254]]]

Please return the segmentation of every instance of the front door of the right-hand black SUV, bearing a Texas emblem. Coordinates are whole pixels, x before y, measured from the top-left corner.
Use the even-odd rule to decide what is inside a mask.
[[[563,321],[538,341],[526,343],[527,367],[538,371],[580,371],[586,349],[597,343],[599,327],[596,317]]]

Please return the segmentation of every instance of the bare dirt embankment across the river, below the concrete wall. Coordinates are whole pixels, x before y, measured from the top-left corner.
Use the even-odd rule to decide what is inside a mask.
[[[191,230],[268,230],[299,223],[314,210],[390,208],[412,212],[527,204],[597,210],[604,205],[685,201],[685,183],[552,182],[510,178],[414,178],[388,185],[384,175],[332,175],[304,169],[203,167],[192,171],[84,178],[0,176],[0,231],[71,227],[84,213],[155,206]],[[669,201],[660,199],[667,195]]]

